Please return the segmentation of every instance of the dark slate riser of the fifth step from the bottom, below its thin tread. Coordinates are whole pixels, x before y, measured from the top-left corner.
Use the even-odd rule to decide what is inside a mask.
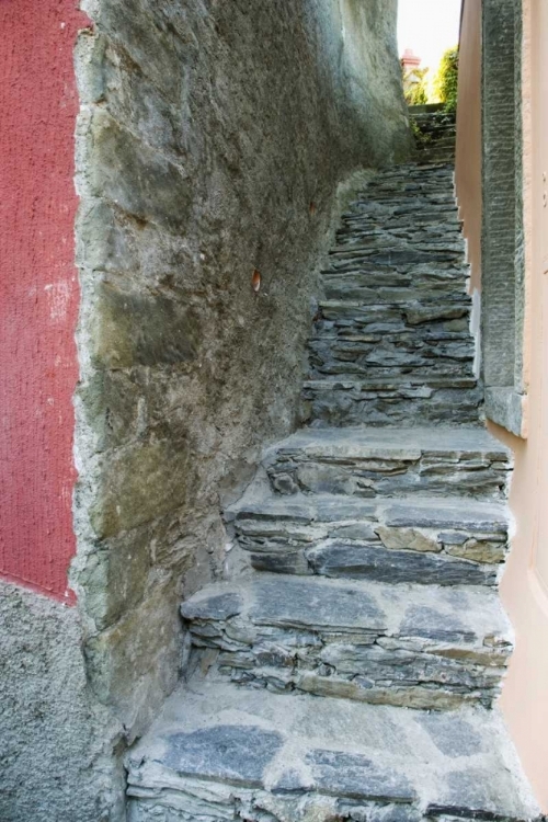
[[[427,379],[427,377],[425,377]],[[338,388],[315,389],[310,384],[304,392],[306,420],[315,425],[477,425],[481,416],[480,389],[408,386],[393,389],[364,390]]]

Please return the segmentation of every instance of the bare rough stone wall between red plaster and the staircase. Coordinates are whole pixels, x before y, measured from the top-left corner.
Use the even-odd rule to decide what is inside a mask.
[[[397,0],[84,8],[71,581],[132,740],[175,683],[181,595],[224,573],[222,502],[296,425],[336,185],[409,130]]]

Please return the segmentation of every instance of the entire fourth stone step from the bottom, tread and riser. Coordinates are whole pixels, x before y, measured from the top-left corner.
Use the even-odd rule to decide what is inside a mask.
[[[504,499],[510,450],[482,429],[299,431],[263,460],[279,494]]]

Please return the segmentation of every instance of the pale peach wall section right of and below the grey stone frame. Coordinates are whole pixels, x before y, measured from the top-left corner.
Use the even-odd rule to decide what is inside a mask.
[[[502,708],[536,794],[548,811],[548,7],[523,0],[525,388],[527,439],[515,452],[516,521],[502,596],[516,650]]]

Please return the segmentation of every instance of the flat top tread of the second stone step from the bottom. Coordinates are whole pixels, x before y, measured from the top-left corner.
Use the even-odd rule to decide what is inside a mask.
[[[185,619],[240,616],[254,625],[330,633],[365,631],[464,643],[510,646],[512,629],[496,592],[475,585],[332,580],[260,573],[212,583],[181,606]]]

